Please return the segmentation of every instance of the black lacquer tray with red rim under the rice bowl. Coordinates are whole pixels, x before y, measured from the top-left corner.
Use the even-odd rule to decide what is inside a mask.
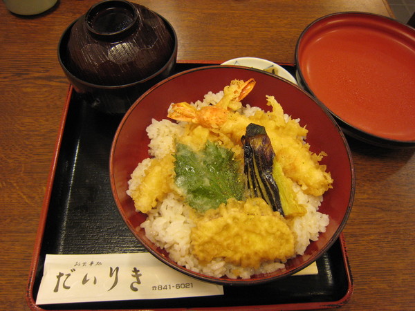
[[[196,66],[201,64],[177,64],[176,71]],[[293,66],[284,68],[295,72]],[[347,303],[353,279],[341,234],[317,260],[317,275],[290,276],[265,285],[225,286],[223,296],[36,305],[46,254],[147,252],[124,224],[109,184],[109,153],[121,118],[94,109],[69,88],[26,291],[30,308],[304,310]]]

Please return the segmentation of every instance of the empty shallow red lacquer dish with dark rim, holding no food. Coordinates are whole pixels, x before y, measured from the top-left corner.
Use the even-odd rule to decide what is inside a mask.
[[[415,29],[344,12],[313,21],[295,51],[297,79],[354,138],[415,147]]]

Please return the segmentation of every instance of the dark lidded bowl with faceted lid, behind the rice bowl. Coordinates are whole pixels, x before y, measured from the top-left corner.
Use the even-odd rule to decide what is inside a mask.
[[[100,111],[124,114],[174,70],[178,41],[164,17],[136,3],[104,0],[62,34],[58,60],[75,91]]]

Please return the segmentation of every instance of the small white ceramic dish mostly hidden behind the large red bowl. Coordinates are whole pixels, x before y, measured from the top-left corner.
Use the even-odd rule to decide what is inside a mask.
[[[261,59],[257,57],[238,57],[238,58],[230,59],[222,63],[221,65],[250,67],[250,68],[265,70],[268,72],[272,72],[271,70],[273,70],[274,71],[273,73],[275,75],[282,77],[288,80],[289,82],[292,82],[295,85],[298,85],[297,81],[295,80],[293,75],[291,75],[291,73],[288,73],[288,71],[282,68],[282,66],[279,66],[266,59]]]

